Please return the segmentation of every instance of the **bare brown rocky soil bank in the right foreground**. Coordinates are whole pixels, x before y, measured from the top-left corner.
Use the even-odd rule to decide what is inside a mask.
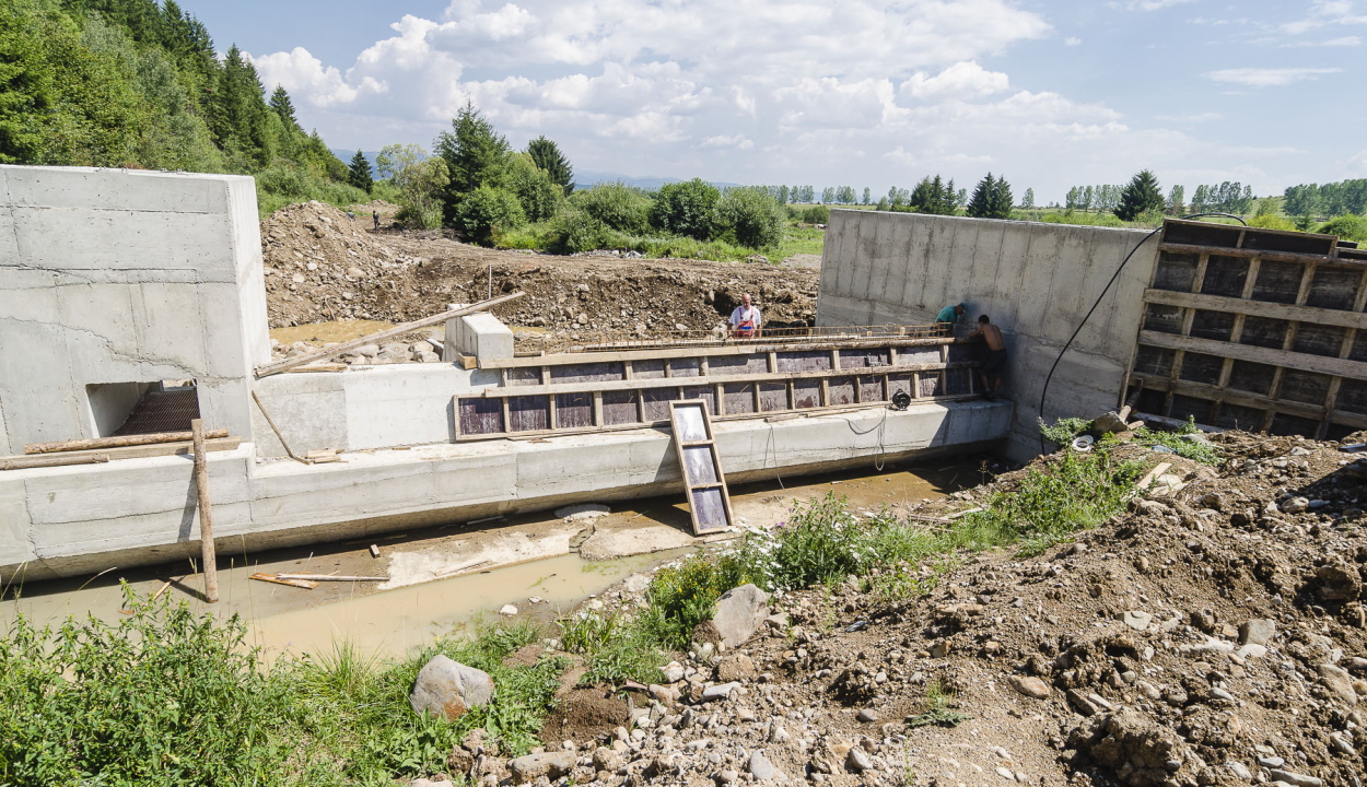
[[[770,598],[744,644],[696,644],[629,704],[566,689],[544,753],[507,760],[470,739],[451,775],[1360,787],[1367,459],[1334,443],[1214,440],[1218,470],[1151,456],[1174,467],[1074,542],[966,557],[910,600],[857,578]],[[1013,475],[916,514],[969,507]],[[640,604],[645,582],[593,604]]]

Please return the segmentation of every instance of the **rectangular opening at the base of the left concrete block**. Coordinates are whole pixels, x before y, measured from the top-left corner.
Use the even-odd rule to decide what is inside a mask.
[[[190,421],[200,417],[194,380],[92,383],[86,400],[98,437],[187,432]]]

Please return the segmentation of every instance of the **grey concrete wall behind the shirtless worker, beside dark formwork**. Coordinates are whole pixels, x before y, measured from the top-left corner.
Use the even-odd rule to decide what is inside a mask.
[[[1003,392],[1016,400],[1009,452],[1039,452],[1039,396],[1050,366],[1115,268],[1147,231],[916,213],[834,210],[822,254],[819,325],[930,324],[966,302],[1006,336]],[[1152,279],[1158,236],[1124,273],[1064,355],[1043,417],[1091,418],[1124,385]],[[966,324],[958,328],[968,331]]]

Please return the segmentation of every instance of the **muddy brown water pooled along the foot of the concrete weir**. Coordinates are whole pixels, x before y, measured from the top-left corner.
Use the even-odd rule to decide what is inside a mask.
[[[740,523],[770,526],[790,515],[794,500],[805,501],[828,492],[846,497],[853,510],[875,511],[887,506],[895,512],[906,504],[942,497],[979,481],[979,465],[962,459],[923,466],[884,466],[882,470],[869,467],[735,486],[731,504]],[[614,506],[610,516],[597,519],[597,530],[690,531],[690,518],[681,497],[652,497],[623,506]],[[187,575],[187,564],[183,563],[113,570],[94,579],[34,583],[23,588],[18,600],[8,589],[11,592],[0,601],[0,630],[21,612],[38,624],[53,626],[67,616],[83,619],[93,615],[111,623],[119,620],[123,618],[119,613],[123,607],[122,579],[144,597],[165,585],[164,592],[172,600],[189,601],[195,609],[211,611],[224,619],[241,615],[249,627],[249,642],[262,648],[268,659],[282,653],[328,653],[338,639],[347,639],[366,652],[401,656],[436,637],[461,633],[481,616],[496,616],[504,604],[514,604],[522,615],[550,620],[558,611],[578,605],[634,571],[692,551],[677,548],[614,556],[596,563],[569,553],[384,592],[377,592],[375,583],[323,582],[313,590],[303,590],[250,579],[253,572],[376,575],[387,571],[394,553],[448,551],[469,555],[481,544],[498,538],[514,534],[528,540],[545,538],[552,530],[563,527],[562,521],[541,512],[480,526],[451,523],[365,541],[260,555],[232,555],[230,549],[220,548],[226,566],[219,570],[217,604],[202,601],[198,594],[202,578]],[[381,548],[384,557],[372,557],[372,541]],[[689,541],[666,538],[653,548]],[[171,583],[167,585],[167,581]],[[543,601],[529,604],[530,597]]]

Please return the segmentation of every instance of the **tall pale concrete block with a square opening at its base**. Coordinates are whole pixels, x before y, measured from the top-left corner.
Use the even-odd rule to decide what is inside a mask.
[[[250,440],[257,221],[250,178],[0,167],[0,454],[98,436],[87,385],[189,377],[206,428]]]

